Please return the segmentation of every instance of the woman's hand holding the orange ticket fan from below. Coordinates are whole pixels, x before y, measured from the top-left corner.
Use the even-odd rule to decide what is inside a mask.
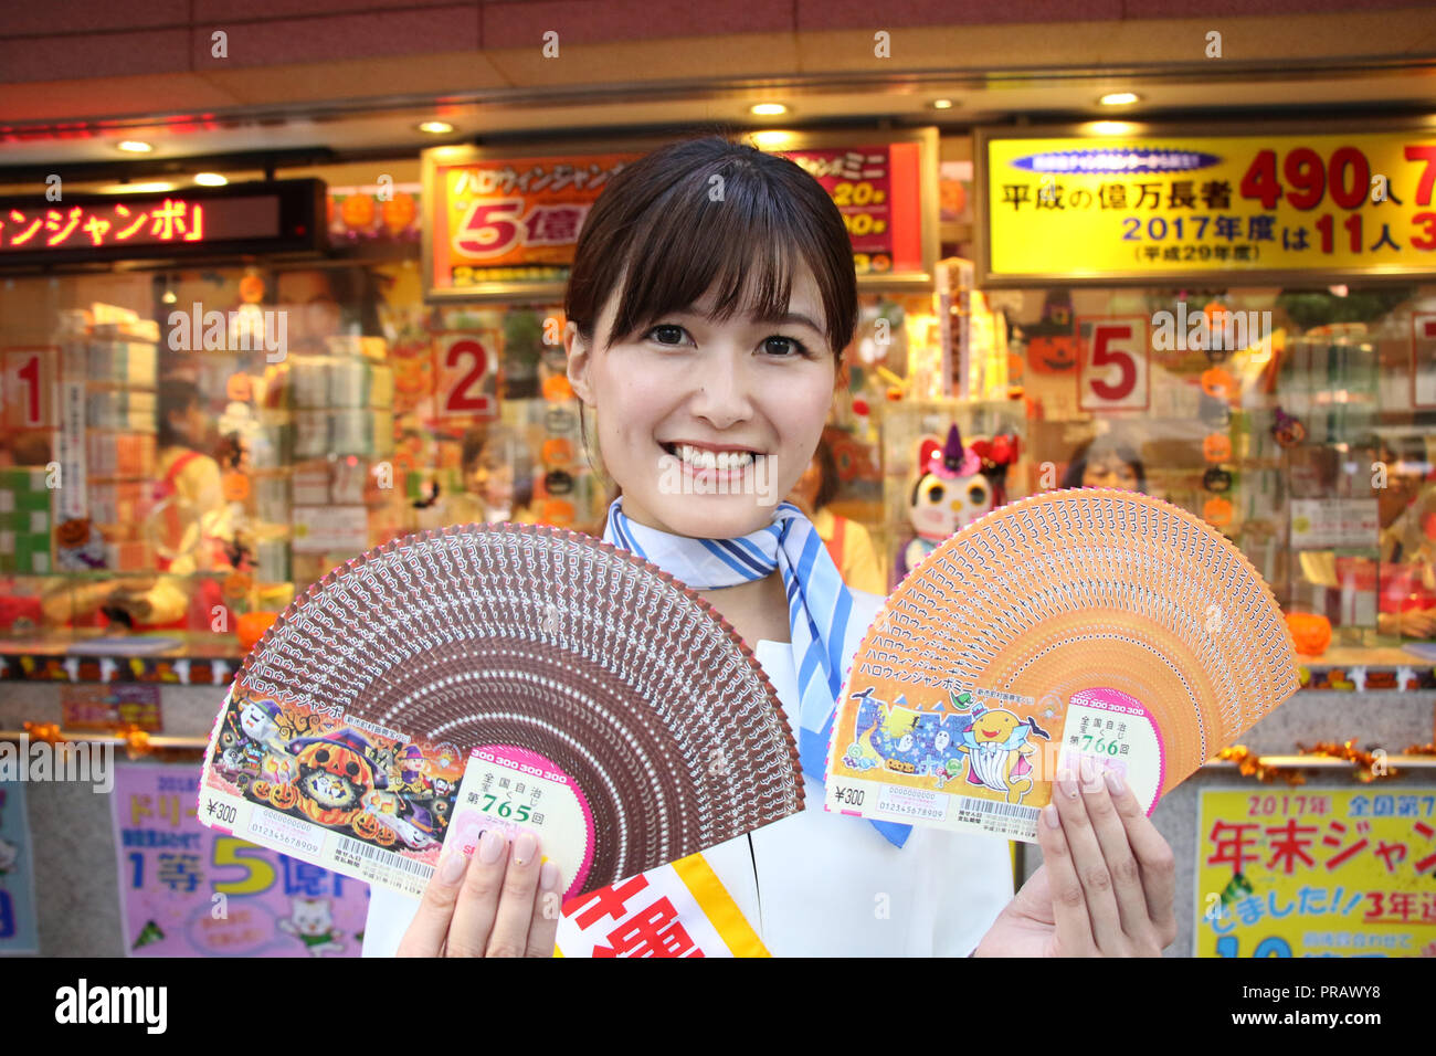
[[[1094,776],[1090,760],[1080,789],[1073,774],[1058,774],[1037,822],[1043,865],[976,957],[1160,957],[1176,940],[1172,848],[1132,790],[1120,780],[1110,787],[1116,774],[1107,776]]]

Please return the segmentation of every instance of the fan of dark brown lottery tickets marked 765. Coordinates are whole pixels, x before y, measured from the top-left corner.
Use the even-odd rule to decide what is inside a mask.
[[[296,599],[200,786],[207,825],[409,895],[484,828],[534,830],[567,899],[801,809],[777,695],[702,598],[508,523],[386,543]]]

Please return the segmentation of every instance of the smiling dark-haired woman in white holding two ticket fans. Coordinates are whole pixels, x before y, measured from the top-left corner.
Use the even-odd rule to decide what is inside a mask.
[[[1005,840],[882,830],[821,807],[826,746],[814,731],[843,674],[827,658],[846,664],[880,608],[834,583],[811,522],[771,499],[793,488],[817,447],[857,318],[852,244],[821,185],[791,161],[721,138],[646,155],[589,213],[566,315],[569,378],[596,414],[603,464],[622,488],[605,536],[679,579],[715,539],[745,537],[774,566],[735,583],[692,583],[755,647],[796,717],[808,807],[702,853],[765,948],[1159,954],[1176,935],[1173,858],[1130,790],[1090,774],[1078,787],[1064,774],[1067,795],[1038,826],[1045,863],[1017,898]],[[672,457],[692,466],[719,454],[737,487],[666,483]],[[760,473],[770,468],[773,477]],[[808,560],[794,565],[804,546]],[[813,601],[824,592],[837,599],[826,615]],[[836,613],[846,602],[844,624]],[[471,861],[441,859],[419,902],[375,888],[365,953],[547,955],[556,938],[579,950],[576,921],[553,912],[556,888],[531,835],[513,846],[485,835]]]

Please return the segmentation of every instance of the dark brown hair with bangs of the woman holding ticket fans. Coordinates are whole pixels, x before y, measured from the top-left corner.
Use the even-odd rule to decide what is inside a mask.
[[[605,349],[691,310],[709,289],[709,322],[741,309],[777,320],[800,264],[813,272],[840,365],[857,330],[857,272],[833,198],[788,158],[724,135],[679,139],[623,167],[599,194],[579,231],[563,310],[592,345],[622,283]],[[579,420],[592,463],[582,404]]]

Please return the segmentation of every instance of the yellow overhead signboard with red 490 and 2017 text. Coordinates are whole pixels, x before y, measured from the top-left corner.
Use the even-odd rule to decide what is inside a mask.
[[[1436,128],[981,134],[981,282],[1436,273]]]

